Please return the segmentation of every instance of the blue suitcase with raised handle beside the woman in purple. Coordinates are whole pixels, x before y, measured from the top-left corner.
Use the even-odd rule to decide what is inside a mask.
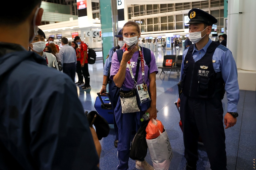
[[[101,95],[98,92],[97,95],[94,108],[100,116],[107,120],[108,124],[114,124],[114,111],[109,100],[109,93]]]

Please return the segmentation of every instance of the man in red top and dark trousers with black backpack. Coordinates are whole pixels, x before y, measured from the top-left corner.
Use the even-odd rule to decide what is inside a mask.
[[[84,77],[84,85],[82,85],[83,90],[91,89],[90,86],[90,74],[88,70],[88,55],[87,55],[87,45],[85,42],[83,42],[79,36],[75,36],[74,41],[80,45],[80,62],[81,62],[81,69],[83,72]]]

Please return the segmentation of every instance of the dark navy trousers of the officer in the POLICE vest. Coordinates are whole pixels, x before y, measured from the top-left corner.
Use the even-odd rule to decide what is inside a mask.
[[[212,170],[227,170],[225,132],[221,96],[212,99],[189,98],[181,94],[181,121],[185,158],[190,164],[198,160],[197,141],[199,134]]]

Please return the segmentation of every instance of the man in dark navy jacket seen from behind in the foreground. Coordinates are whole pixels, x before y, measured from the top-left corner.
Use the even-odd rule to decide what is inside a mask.
[[[0,169],[99,170],[101,145],[75,83],[28,51],[41,1],[15,1],[18,15],[0,6]]]

